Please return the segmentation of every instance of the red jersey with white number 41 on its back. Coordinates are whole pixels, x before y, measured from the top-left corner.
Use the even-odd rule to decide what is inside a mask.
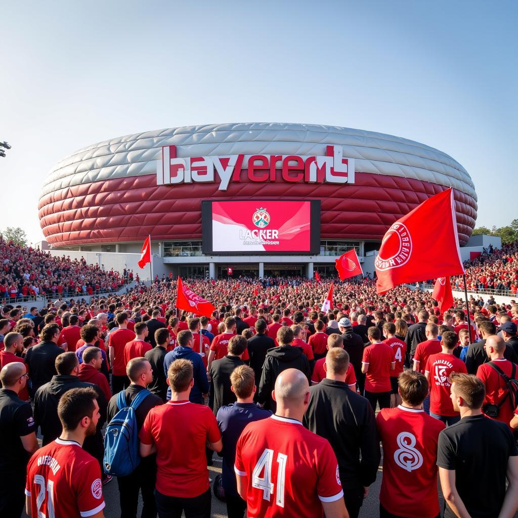
[[[272,415],[248,424],[234,469],[247,477],[248,518],[316,518],[323,516],[321,501],[343,498],[329,442],[294,419]]]

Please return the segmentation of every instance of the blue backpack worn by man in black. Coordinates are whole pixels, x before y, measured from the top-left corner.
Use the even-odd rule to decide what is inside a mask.
[[[116,477],[125,477],[140,464],[138,451],[138,429],[135,410],[149,396],[147,389],[141,390],[128,407],[125,391],[117,396],[119,411],[106,427],[104,436],[104,471]]]

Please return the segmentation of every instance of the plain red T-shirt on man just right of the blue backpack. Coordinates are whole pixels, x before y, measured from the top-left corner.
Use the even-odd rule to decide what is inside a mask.
[[[144,444],[156,444],[157,491],[194,498],[208,490],[205,443],[221,439],[209,407],[190,401],[167,401],[149,411],[139,438]]]

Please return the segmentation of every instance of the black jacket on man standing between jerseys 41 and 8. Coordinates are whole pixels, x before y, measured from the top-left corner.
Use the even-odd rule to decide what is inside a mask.
[[[367,399],[341,381],[322,380],[309,389],[304,425],[329,441],[342,485],[369,486],[380,464],[376,419]]]

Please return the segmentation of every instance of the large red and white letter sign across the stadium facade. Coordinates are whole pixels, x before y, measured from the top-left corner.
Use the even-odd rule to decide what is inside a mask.
[[[176,146],[162,148],[157,161],[157,185],[218,182],[275,182],[277,170],[286,182],[354,183],[354,159],[342,156],[341,146],[326,146],[325,155],[213,155],[177,157]],[[246,172],[245,172],[246,171]]]

